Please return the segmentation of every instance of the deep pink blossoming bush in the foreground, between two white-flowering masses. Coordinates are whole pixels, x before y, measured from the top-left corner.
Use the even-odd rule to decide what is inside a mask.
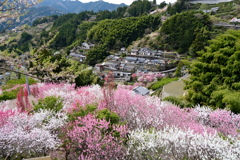
[[[69,149],[79,155],[78,159],[112,159],[124,156],[123,142],[126,140],[126,127],[113,126],[110,122],[96,119],[93,115],[78,118],[67,135],[71,139]],[[114,136],[119,132],[119,137]],[[76,149],[77,148],[77,149]]]

